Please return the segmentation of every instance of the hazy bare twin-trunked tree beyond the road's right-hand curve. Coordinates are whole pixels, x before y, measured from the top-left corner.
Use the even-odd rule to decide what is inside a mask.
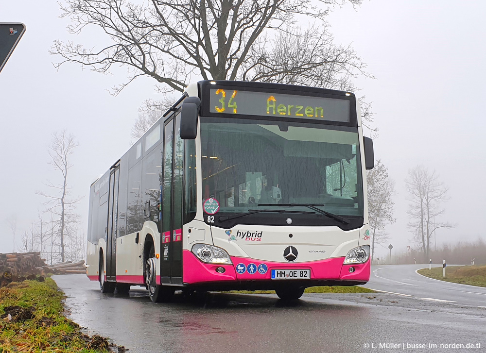
[[[410,201],[407,210],[408,227],[425,258],[428,259],[434,231],[438,228],[453,227],[450,223],[435,222],[435,219],[444,213],[441,204],[449,200],[446,195],[449,188],[439,181],[435,171],[430,172],[423,166],[417,166],[408,172],[405,185]]]

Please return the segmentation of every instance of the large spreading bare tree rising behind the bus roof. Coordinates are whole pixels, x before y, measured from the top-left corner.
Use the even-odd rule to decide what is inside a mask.
[[[126,67],[128,79],[113,87],[115,95],[140,76],[152,77],[163,101],[194,77],[356,90],[352,79],[371,75],[350,46],[334,43],[326,22],[330,8],[346,2],[362,0],[65,0],[61,17],[72,22],[69,34],[96,27],[109,44],[95,49],[56,40],[50,52],[62,57],[56,68]]]

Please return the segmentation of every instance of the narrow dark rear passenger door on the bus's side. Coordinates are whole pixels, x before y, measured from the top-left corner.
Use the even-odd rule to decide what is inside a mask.
[[[120,161],[110,170],[110,186],[108,196],[108,227],[106,238],[106,280],[116,281],[117,269],[117,219],[118,219],[118,179]]]

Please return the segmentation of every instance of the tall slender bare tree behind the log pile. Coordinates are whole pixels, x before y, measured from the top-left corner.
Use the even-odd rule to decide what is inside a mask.
[[[74,136],[68,134],[66,130],[52,134],[52,142],[49,146],[49,155],[51,157],[49,164],[54,167],[54,170],[60,172],[62,182],[58,184],[47,183],[47,186],[53,190],[52,194],[37,191],[37,194],[48,199],[45,202],[47,211],[55,215],[56,220],[54,220],[54,223],[57,227],[55,232],[59,238],[61,261],[65,261],[66,241],[70,235],[74,234],[75,224],[79,219],[74,210],[76,203],[81,198],[69,198],[70,189],[68,185],[68,171],[72,167],[69,157],[76,146],[77,143],[74,141]]]

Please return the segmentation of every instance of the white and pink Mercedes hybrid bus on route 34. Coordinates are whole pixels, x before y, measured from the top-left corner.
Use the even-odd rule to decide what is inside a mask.
[[[353,93],[191,83],[91,185],[87,276],[153,302],[365,284],[373,159]]]

